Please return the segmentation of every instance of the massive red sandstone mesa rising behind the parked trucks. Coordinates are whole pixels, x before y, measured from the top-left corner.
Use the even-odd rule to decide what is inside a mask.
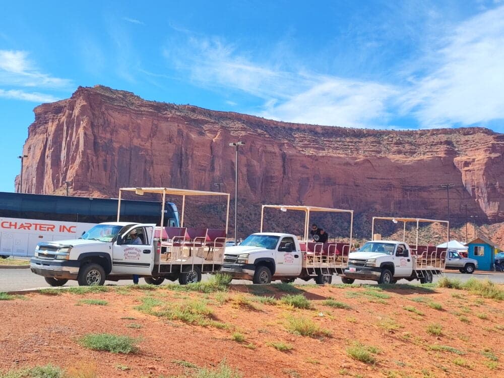
[[[103,86],[35,108],[23,153],[28,193],[116,197],[119,187],[167,186],[239,192],[260,203],[353,209],[359,214],[463,222],[504,212],[504,135],[487,129],[380,131],[294,124],[141,99]],[[18,183],[19,184],[19,183]],[[254,211],[257,214],[257,211]],[[243,232],[255,229],[247,214]],[[502,221],[504,219],[500,219]]]

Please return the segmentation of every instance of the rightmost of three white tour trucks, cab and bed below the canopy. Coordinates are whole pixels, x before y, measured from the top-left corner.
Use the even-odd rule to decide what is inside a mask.
[[[342,281],[351,284],[355,280],[371,280],[390,284],[404,278],[430,283],[434,275],[442,274],[445,262],[446,249],[418,256],[402,241],[368,241],[359,250],[349,254]]]

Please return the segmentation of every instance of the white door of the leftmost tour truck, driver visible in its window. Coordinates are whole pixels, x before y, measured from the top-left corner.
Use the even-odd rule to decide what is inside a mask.
[[[155,256],[155,226],[137,224],[120,235],[120,244],[115,241],[112,245],[112,274],[151,275]]]

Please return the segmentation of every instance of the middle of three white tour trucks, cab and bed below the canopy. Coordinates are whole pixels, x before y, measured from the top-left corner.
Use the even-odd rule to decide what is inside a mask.
[[[310,246],[315,250],[310,251]],[[287,233],[254,233],[240,245],[226,248],[221,271],[233,279],[251,280],[255,284],[274,280],[289,283],[296,278],[305,281],[313,278],[320,285],[331,283],[333,274],[342,272],[344,257],[336,251],[336,243],[327,244],[326,253],[322,246],[300,242]]]

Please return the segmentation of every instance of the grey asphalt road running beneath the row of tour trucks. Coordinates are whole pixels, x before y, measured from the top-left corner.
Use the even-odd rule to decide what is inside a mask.
[[[469,278],[474,277],[478,279],[486,279],[496,282],[496,283],[504,283],[504,273],[475,273],[475,274],[460,274],[456,273],[447,273],[447,277],[449,278],[458,278],[461,281],[467,281]],[[208,280],[210,276],[204,275],[203,280]],[[434,277],[434,282],[437,280]],[[140,282],[142,283],[142,279]],[[165,281],[166,283],[171,283],[171,281]],[[401,280],[399,283],[407,283],[408,281]],[[418,281],[413,281],[418,282]],[[250,281],[242,281],[242,280],[234,280],[233,283],[236,284],[250,284]],[[306,283],[314,283],[313,280],[305,282],[303,280],[296,280],[296,284],[306,284]],[[333,277],[333,283],[341,283],[341,279],[338,276]],[[375,284],[372,281],[360,281],[360,283],[370,283]],[[119,282],[114,281],[105,281],[106,285],[131,285],[132,281],[122,280]],[[69,281],[66,286],[77,286],[77,281]],[[30,269],[0,269],[0,291],[14,291],[14,290],[24,290],[24,289],[33,289],[38,287],[50,287],[44,280],[44,277],[38,276],[30,271]]]

